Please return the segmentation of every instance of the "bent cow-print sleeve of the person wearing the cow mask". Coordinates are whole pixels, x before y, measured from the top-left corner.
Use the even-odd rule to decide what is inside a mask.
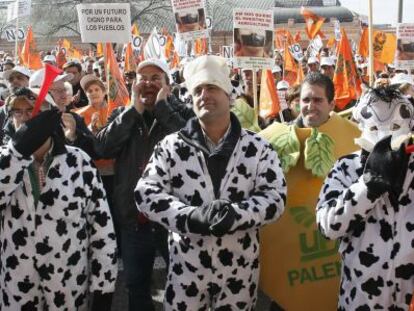
[[[316,222],[320,232],[329,239],[360,232],[377,202],[367,195],[360,163],[358,154],[339,159],[322,186]]]

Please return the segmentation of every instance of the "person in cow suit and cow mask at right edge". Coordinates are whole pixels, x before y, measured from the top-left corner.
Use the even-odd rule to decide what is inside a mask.
[[[338,310],[407,310],[414,290],[414,159],[406,150],[413,107],[398,91],[377,88],[353,115],[362,150],[336,162],[317,204],[320,231],[341,242]]]

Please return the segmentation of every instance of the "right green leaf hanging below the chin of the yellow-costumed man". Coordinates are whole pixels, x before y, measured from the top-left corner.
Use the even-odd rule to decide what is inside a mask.
[[[312,171],[313,175],[325,178],[336,161],[334,146],[332,138],[313,128],[305,141],[305,168]]]

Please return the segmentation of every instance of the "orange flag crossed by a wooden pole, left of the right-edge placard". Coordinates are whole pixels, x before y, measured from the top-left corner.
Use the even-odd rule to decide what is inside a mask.
[[[363,27],[359,40],[358,53],[364,57],[369,55],[369,29]],[[391,64],[394,62],[395,51],[397,49],[397,37],[392,33],[374,31],[374,57],[377,62]]]

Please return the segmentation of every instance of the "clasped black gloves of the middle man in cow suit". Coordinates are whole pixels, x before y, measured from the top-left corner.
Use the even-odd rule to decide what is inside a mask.
[[[229,213],[227,206],[230,206],[229,201],[214,200],[207,206],[194,209],[187,218],[188,229],[192,233],[203,235],[210,235],[212,229],[221,232],[228,222],[226,218],[227,213]],[[212,226],[217,226],[217,228],[211,228]]]

